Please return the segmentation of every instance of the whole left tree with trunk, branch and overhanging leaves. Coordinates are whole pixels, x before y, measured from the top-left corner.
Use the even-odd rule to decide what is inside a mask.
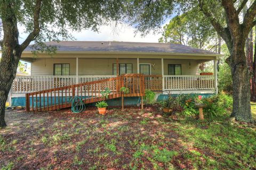
[[[54,47],[44,45],[46,40],[70,39],[68,30],[91,28],[109,21],[117,21],[122,12],[122,3],[115,0],[68,1],[68,0],[2,0],[0,1],[0,37],[2,58],[0,61],[0,127],[4,121],[5,101],[9,94],[23,50],[35,42],[34,49],[51,52]],[[28,33],[19,43],[19,27]],[[2,38],[2,39],[1,39]]]

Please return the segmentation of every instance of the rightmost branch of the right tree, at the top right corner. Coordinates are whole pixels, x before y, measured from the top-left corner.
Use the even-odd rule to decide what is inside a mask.
[[[256,15],[256,1],[252,3],[249,9],[246,11],[243,21],[243,33],[247,36],[252,27],[254,27],[255,22],[254,17]]]

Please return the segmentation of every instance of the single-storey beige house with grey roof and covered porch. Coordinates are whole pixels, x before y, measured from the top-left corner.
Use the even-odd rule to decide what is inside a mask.
[[[22,53],[21,59],[31,63],[31,76],[17,77],[13,81],[12,105],[25,105],[28,92],[130,73],[143,74],[145,89],[155,91],[158,99],[167,92],[203,95],[218,92],[216,62],[222,55],[207,50],[181,44],[119,41],[51,41],[45,44],[57,47],[56,53],[38,52],[34,56],[31,46]],[[214,62],[213,75],[199,75],[198,65],[208,61]]]

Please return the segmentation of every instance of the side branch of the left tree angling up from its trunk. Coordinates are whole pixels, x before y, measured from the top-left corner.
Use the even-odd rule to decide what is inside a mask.
[[[39,14],[41,11],[42,6],[42,0],[37,0],[35,5],[35,11],[34,11],[34,29],[32,32],[29,33],[26,40],[20,45],[21,52],[30,44],[31,41],[33,41],[40,31],[39,26]]]

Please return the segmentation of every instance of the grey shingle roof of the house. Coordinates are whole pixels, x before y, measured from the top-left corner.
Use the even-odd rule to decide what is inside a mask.
[[[139,43],[123,41],[49,41],[46,45],[57,46],[57,52],[135,52],[135,53],[188,53],[188,54],[216,54],[207,50],[197,49],[181,44],[170,43]],[[28,46],[26,51],[31,51]]]

